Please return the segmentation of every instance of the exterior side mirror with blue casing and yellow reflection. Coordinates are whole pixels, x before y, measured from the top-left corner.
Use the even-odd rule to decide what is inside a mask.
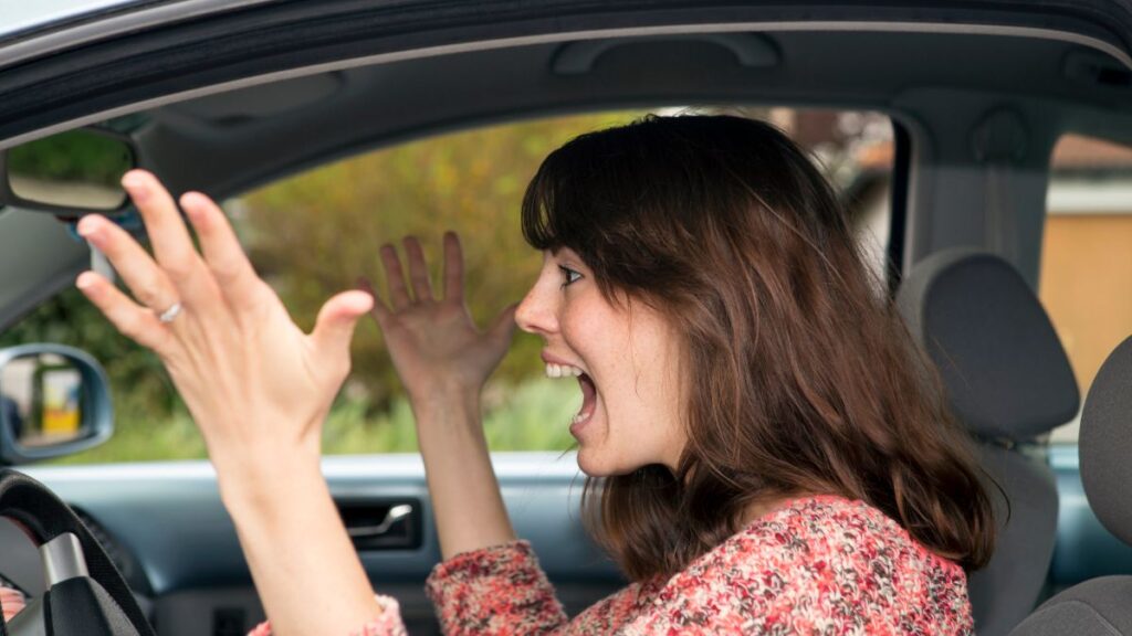
[[[94,358],[58,344],[0,350],[0,463],[61,457],[112,432],[106,376]]]

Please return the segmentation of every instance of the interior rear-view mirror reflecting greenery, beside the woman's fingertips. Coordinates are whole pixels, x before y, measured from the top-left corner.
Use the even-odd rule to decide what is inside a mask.
[[[0,203],[74,214],[113,212],[128,201],[122,175],[137,165],[134,141],[97,128],[79,128],[0,153]]]

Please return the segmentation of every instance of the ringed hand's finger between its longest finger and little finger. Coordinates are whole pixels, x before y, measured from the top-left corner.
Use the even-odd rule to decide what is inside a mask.
[[[138,302],[160,312],[180,301],[173,283],[128,232],[98,215],[84,216],[77,229],[106,255]]]

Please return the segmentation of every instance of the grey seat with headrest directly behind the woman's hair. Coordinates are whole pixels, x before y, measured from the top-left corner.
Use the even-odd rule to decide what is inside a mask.
[[[998,542],[969,592],[976,631],[1003,636],[1037,604],[1057,531],[1053,471],[1015,444],[1077,414],[1077,380],[1040,302],[996,256],[937,252],[912,268],[898,303],[993,480]]]

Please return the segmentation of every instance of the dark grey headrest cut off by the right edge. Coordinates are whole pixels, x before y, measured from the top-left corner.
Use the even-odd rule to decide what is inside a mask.
[[[1092,380],[1078,445],[1089,506],[1109,532],[1132,543],[1132,337],[1108,355]]]

